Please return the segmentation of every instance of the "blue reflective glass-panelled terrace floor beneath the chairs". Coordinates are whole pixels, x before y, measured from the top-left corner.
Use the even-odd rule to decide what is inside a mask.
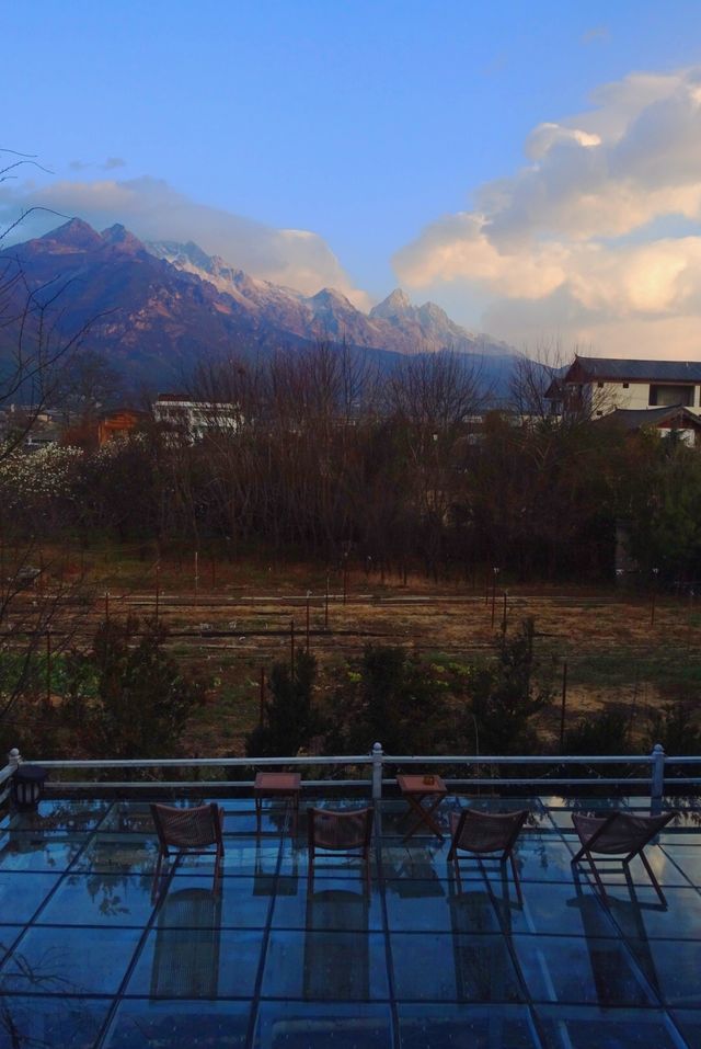
[[[256,836],[252,801],[221,805],[220,892],[192,857],[156,904],[146,802],[0,810],[1,1049],[701,1047],[701,811],[648,847],[668,907],[636,862],[607,910],[572,875],[572,799],[441,807],[528,807],[522,907],[476,865],[459,891],[447,841],[402,841],[401,800],[369,892],[338,857],[308,893],[303,818],[292,839],[272,809]]]

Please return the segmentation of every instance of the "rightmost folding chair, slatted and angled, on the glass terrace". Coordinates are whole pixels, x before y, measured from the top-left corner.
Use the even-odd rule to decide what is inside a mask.
[[[643,867],[653,883],[659,901],[667,905],[665,894],[659,887],[659,882],[650,866],[643,852],[648,844],[658,834],[663,826],[666,826],[670,820],[678,816],[678,812],[667,812],[664,816],[634,816],[632,812],[611,812],[610,816],[579,816],[573,813],[572,822],[577,832],[577,837],[582,847],[572,860],[572,865],[582,863],[585,858],[591,868],[594,880],[601,893],[604,902],[608,905],[609,899],[604,888],[604,882],[594,862],[594,854],[608,857],[609,859],[619,859],[625,868],[627,877],[628,866],[635,856],[640,856]],[[607,860],[599,859],[599,863]]]

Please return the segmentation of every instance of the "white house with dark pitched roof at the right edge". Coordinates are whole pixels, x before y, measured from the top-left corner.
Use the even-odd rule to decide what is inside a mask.
[[[553,414],[616,409],[646,411],[679,406],[701,412],[701,362],[579,357],[545,391]],[[654,423],[653,423],[654,424]]]

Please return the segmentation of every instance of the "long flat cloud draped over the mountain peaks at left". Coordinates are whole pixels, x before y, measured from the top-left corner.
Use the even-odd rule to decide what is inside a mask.
[[[108,158],[103,168],[118,166]],[[122,223],[142,240],[193,240],[208,254],[252,276],[273,281],[313,295],[335,287],[356,306],[366,309],[366,294],[355,288],[325,241],[307,230],[275,229],[263,223],[191,201],[169,183],[148,176],[130,180],[58,181],[36,189],[1,187],[0,219],[16,217],[20,208],[34,204],[61,216],[78,216],[96,229]],[[41,213],[18,227],[15,239],[24,240],[56,226]]]

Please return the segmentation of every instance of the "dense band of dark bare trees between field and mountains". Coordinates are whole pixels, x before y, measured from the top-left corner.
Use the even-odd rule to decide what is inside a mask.
[[[527,380],[524,378],[527,375]],[[230,552],[344,558],[435,579],[600,580],[617,524],[643,575],[692,580],[701,558],[701,457],[655,432],[533,399],[547,374],[516,373],[510,411],[469,357],[407,357],[378,375],[320,345],[258,366],[200,369],[188,396],[210,406],[191,440],[145,423],[129,440],[0,458],[3,535],[216,544]],[[527,396],[526,396],[527,395]],[[519,400],[520,397],[520,400]],[[528,401],[528,403],[526,403]],[[217,406],[235,406],[217,422]]]

